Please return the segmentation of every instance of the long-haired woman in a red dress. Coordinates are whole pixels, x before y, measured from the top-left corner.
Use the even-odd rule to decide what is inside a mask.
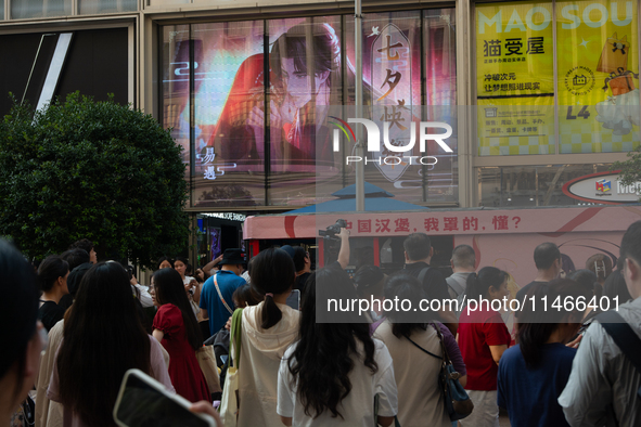
[[[154,273],[154,290],[161,307],[154,318],[153,336],[169,353],[169,377],[176,392],[191,402],[211,402],[195,353],[203,346],[203,337],[180,274],[174,269],[158,270]]]

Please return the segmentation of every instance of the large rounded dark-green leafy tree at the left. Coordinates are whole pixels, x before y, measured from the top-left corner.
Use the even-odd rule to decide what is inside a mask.
[[[87,237],[142,266],[187,247],[181,147],[139,111],[78,93],[0,122],[0,235],[28,257]],[[106,255],[106,254],[102,254]]]

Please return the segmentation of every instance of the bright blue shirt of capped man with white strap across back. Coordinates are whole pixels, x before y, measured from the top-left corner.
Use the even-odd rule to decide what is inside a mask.
[[[238,276],[235,273],[220,270],[203,284],[203,289],[201,290],[201,308],[207,310],[207,314],[209,315],[210,334],[216,334],[225,326],[231,315],[218,296],[214,277],[217,277],[218,287],[220,288],[222,298],[225,298],[225,302],[232,310],[234,309],[232,300],[234,290],[246,283],[243,277]]]

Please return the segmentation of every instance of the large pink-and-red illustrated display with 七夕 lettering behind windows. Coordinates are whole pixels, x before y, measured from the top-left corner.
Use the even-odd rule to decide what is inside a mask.
[[[163,119],[183,147],[191,205],[311,205],[352,183],[350,148],[334,150],[331,116],[347,120],[341,109],[354,106],[357,79],[375,119],[394,122],[397,146],[412,121],[456,130],[453,18],[453,9],[368,14],[362,76],[347,15],[165,26]],[[437,165],[372,161],[366,179],[408,202],[457,200],[456,135],[449,141],[453,153],[428,144]]]

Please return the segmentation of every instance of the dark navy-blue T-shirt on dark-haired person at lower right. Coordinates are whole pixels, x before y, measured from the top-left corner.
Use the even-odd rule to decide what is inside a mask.
[[[499,363],[498,404],[508,410],[512,427],[569,426],[559,404],[576,349],[562,344],[541,346],[541,362],[528,368],[521,346],[509,348]]]

